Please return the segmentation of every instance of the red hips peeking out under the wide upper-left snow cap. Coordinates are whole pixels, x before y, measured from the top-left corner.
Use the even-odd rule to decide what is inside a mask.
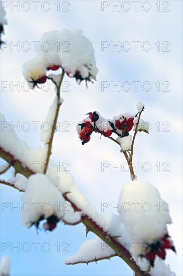
[[[54,65],[51,65],[51,66],[47,67],[47,70],[57,71],[59,68],[62,68],[62,66],[61,66],[61,65],[55,65],[55,64],[54,64]],[[64,70],[64,69],[62,68],[62,70]],[[70,72],[67,72],[67,71],[66,71],[66,74],[67,74],[67,76],[70,77],[70,78],[75,78],[75,79],[76,79],[76,82],[79,83],[79,84],[80,84],[83,80],[85,80],[85,82],[86,82],[86,87],[87,87],[87,81],[93,83],[93,81],[91,80],[91,78],[95,79],[91,74],[89,74],[89,76],[88,76],[87,78],[84,79],[84,78],[81,76],[81,74],[80,74],[80,72],[79,72],[78,70],[75,72],[74,75],[71,74]],[[37,80],[35,80],[35,79],[32,78],[32,81],[30,81],[30,82],[33,83],[33,88],[34,88],[35,86],[38,87],[38,84],[43,84],[43,83],[45,83],[46,81],[47,81],[47,76],[45,75],[45,76],[40,77],[40,78],[37,79]],[[39,88],[39,87],[38,87],[38,88]]]

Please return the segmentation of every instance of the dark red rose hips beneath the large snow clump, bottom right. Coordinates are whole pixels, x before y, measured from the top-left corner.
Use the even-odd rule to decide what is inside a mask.
[[[152,243],[150,245],[148,244],[147,252],[145,253],[145,255],[140,255],[140,256],[148,259],[150,262],[150,265],[153,267],[156,255],[163,260],[165,259],[165,256],[166,256],[165,249],[171,249],[174,252],[176,252],[175,247],[173,246],[173,243],[169,238],[170,236],[168,234],[165,234],[156,243]]]

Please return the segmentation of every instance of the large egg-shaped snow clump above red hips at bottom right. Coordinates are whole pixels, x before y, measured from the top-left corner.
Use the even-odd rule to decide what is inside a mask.
[[[124,207],[120,216],[132,241],[151,244],[166,234],[171,218],[169,212],[162,211],[164,201],[154,186],[137,180],[129,182],[122,187],[120,202],[126,204],[127,209]],[[142,251],[142,246],[138,246],[136,253]]]

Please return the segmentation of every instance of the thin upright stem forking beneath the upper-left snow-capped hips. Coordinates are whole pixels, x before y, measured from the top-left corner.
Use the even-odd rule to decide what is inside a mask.
[[[63,70],[59,84],[57,84],[57,82],[55,82],[52,78],[50,78],[53,81],[53,83],[55,84],[56,88],[57,88],[57,108],[56,108],[56,112],[55,112],[54,122],[53,122],[53,125],[52,125],[50,140],[48,142],[48,152],[47,152],[47,158],[46,158],[45,167],[44,167],[44,174],[47,173],[50,156],[52,154],[53,137],[54,137],[56,124],[57,124],[57,119],[58,119],[58,115],[59,115],[59,110],[60,110],[60,106],[61,106],[61,103],[60,103],[60,87],[62,85],[64,74],[65,74],[65,72]]]

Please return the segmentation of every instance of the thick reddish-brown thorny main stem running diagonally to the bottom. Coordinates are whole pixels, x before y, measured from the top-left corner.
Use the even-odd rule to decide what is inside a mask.
[[[2,154],[3,153],[3,154]],[[12,160],[15,160],[12,154],[5,152],[2,148],[0,148],[0,157],[2,157],[4,160],[7,162],[10,162],[10,156]],[[18,164],[22,164],[21,161],[16,160]],[[17,163],[11,163],[12,166],[15,166]],[[35,174],[35,172],[31,170],[27,170],[27,168],[24,168],[23,166],[18,166],[16,168],[16,171],[24,175],[25,177],[30,177],[31,175]],[[2,184],[8,185],[7,183],[4,183],[4,181],[1,182]],[[13,188],[16,188],[13,185],[8,185]],[[71,203],[71,206],[73,207],[74,211],[82,211],[79,209],[75,203],[73,203],[69,198],[68,195],[69,193],[63,194],[64,198]],[[144,271],[140,270],[140,267],[136,264],[136,262],[133,260],[130,252],[121,244],[117,241],[115,237],[110,236],[107,232],[105,232],[92,218],[90,218],[87,214],[82,217],[81,221],[88,231],[92,231],[95,233],[99,238],[101,238],[107,245],[109,245],[115,252],[116,254],[123,259],[127,265],[135,272],[136,276],[150,276],[149,273],[145,274]]]

